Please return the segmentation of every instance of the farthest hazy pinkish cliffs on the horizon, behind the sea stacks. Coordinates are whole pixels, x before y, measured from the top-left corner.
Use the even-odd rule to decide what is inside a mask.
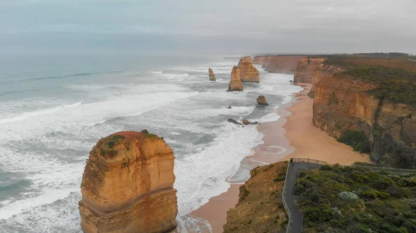
[[[271,55],[271,56],[256,56],[253,59],[254,64],[260,64],[266,71],[273,73],[295,73],[295,68],[300,59],[304,56],[286,56],[286,55]]]

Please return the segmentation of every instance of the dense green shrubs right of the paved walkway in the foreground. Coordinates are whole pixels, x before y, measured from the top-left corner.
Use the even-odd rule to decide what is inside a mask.
[[[416,175],[357,167],[302,171],[295,198],[302,232],[416,232]]]

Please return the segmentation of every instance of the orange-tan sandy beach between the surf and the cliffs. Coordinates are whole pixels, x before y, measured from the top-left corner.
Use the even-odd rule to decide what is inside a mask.
[[[258,126],[259,132],[264,135],[264,143],[254,149],[254,156],[246,157],[245,162],[261,165],[259,162],[273,163],[291,157],[313,158],[343,165],[369,161],[367,155],[353,151],[352,147],[337,142],[315,127],[312,122],[313,99],[306,95],[312,84],[299,85],[304,90],[296,94],[297,101],[292,106],[278,112],[281,118]],[[239,186],[231,185],[227,192],[211,198],[191,216],[209,221],[213,233],[223,232],[228,209],[238,203]]]

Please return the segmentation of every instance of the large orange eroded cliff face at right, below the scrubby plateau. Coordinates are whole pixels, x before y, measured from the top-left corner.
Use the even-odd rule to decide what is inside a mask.
[[[416,168],[416,111],[370,95],[374,84],[333,75],[336,66],[319,66],[313,77],[313,123],[340,138],[345,131],[364,131],[374,162]]]

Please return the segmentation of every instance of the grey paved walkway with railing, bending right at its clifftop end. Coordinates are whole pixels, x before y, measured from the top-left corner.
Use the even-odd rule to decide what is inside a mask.
[[[302,214],[297,208],[293,191],[295,190],[297,173],[302,170],[317,169],[322,167],[311,162],[295,162],[293,165],[289,165],[286,174],[286,180],[284,182],[283,196],[286,201],[287,210],[291,213],[290,221],[288,223],[288,233],[300,233],[302,230]]]

